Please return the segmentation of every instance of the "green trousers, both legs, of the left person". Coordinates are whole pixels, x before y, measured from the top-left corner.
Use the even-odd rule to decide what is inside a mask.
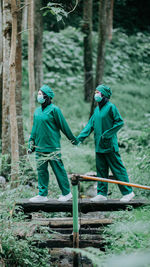
[[[48,163],[50,163],[60,190],[62,191],[62,195],[65,196],[70,193],[70,184],[61,160],[61,155],[57,154],[57,156],[53,156],[54,153],[52,153],[52,156],[49,155],[50,153],[36,153],[39,195],[48,195]]]

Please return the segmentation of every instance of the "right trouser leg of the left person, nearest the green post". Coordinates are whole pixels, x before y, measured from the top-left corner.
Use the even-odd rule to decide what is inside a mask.
[[[50,160],[50,165],[52,170],[56,176],[58,185],[62,192],[62,195],[65,196],[70,193],[70,184],[68,180],[67,173],[65,171],[63,162],[61,160],[61,156],[57,155],[57,158],[54,160]]]

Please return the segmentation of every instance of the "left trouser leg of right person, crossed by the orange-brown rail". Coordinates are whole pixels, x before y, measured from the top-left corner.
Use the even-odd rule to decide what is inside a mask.
[[[98,177],[108,178],[109,166],[107,160],[105,159],[104,154],[96,153],[96,169]],[[98,182],[97,194],[107,196],[107,193],[108,193],[108,183]]]

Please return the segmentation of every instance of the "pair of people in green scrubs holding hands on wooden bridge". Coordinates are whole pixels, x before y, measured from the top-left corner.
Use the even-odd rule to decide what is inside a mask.
[[[54,97],[52,89],[47,85],[40,88],[37,101],[41,106],[34,112],[28,149],[28,153],[32,153],[33,150],[36,152],[39,194],[31,198],[31,202],[48,200],[48,163],[62,192],[58,201],[65,202],[72,198],[68,176],[61,160],[60,131],[73,145],[83,142],[94,131],[97,176],[107,178],[110,168],[117,180],[129,182],[117,142],[117,131],[123,126],[123,120],[116,106],[109,101],[111,94],[111,89],[104,84],[96,88],[94,98],[97,107],[87,125],[78,137],[75,137],[61,110],[51,102]],[[119,185],[119,189],[123,195],[120,201],[128,202],[134,197],[131,187]],[[98,182],[97,196],[91,201],[105,201],[107,193],[108,183]]]

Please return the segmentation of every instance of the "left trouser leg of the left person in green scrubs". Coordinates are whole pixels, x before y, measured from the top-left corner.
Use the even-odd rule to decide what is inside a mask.
[[[36,153],[36,163],[38,172],[38,188],[40,196],[48,195],[48,160],[44,153]]]

